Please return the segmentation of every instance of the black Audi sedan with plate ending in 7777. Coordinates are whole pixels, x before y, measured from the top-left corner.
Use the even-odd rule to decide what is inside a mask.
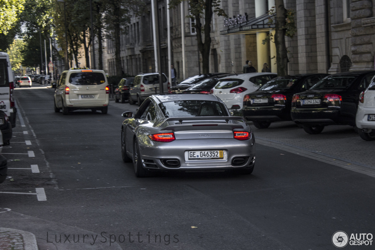
[[[308,90],[327,75],[304,74],[273,78],[244,97],[243,115],[258,129],[266,129],[274,121],[291,121],[293,95]]]

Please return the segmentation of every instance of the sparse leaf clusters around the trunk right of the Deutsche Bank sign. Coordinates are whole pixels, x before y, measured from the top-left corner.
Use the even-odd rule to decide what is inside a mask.
[[[268,18],[268,24],[275,24],[275,7],[272,7],[268,12],[269,18]],[[287,9],[287,15],[285,16],[285,26],[281,27],[281,29],[285,29],[285,36],[293,38],[294,35],[297,32],[296,22],[294,21],[294,17],[296,16],[296,12],[293,9]],[[268,36],[264,40],[262,40],[263,44],[266,44],[266,42],[275,42],[273,34],[269,33]]]

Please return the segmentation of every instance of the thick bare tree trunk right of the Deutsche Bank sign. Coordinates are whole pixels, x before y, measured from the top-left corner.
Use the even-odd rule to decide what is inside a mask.
[[[285,46],[285,19],[287,10],[283,0],[275,0],[276,25],[275,25],[275,46],[276,62],[278,64],[278,76],[288,75],[288,51]]]

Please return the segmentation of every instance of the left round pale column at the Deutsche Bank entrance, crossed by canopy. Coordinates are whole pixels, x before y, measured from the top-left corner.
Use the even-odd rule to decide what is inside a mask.
[[[255,17],[262,16],[267,13],[267,1],[264,0],[255,0]],[[266,38],[267,32],[257,32],[257,58],[258,58],[258,67],[257,71],[262,72],[263,63],[268,63],[270,55],[268,49],[268,42],[262,44],[262,41]],[[255,62],[254,62],[255,64]],[[253,64],[253,66],[255,66]]]

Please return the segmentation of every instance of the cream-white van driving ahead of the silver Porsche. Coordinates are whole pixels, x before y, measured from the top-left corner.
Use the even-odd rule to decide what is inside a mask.
[[[55,112],[67,115],[76,109],[108,112],[110,88],[104,70],[71,68],[61,73],[55,95]]]

